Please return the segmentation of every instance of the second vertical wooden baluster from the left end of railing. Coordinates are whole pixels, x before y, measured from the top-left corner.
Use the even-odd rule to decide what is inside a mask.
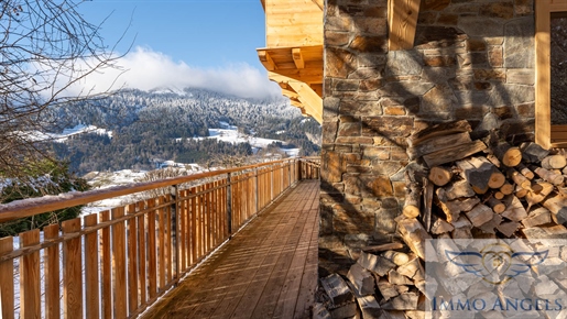
[[[28,248],[39,243],[39,229],[20,233],[21,248]],[[10,282],[12,282],[12,279],[10,279]],[[20,257],[20,310],[21,318],[41,318],[42,316],[39,251]]]

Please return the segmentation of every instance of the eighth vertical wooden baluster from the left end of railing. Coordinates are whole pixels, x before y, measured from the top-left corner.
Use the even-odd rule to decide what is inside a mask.
[[[135,204],[128,206],[128,215],[135,215]],[[137,219],[128,220],[128,311],[138,309],[138,227]]]

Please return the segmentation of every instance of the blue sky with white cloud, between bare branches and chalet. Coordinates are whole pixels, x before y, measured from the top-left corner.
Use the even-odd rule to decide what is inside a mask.
[[[260,0],[92,0],[78,11],[95,24],[108,18],[101,29],[108,45],[126,32],[117,52],[132,45],[121,64],[127,87],[196,86],[260,98],[277,91],[255,53],[265,45]],[[91,81],[109,76],[116,73]]]

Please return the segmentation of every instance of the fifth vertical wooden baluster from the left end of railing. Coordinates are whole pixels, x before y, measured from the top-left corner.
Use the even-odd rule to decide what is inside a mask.
[[[97,226],[97,215],[87,215],[83,218],[83,222],[86,228]],[[58,228],[58,226],[56,226]],[[45,237],[47,232],[44,229]],[[99,285],[98,282],[98,233],[91,232],[85,235],[85,314],[87,318],[95,319],[100,318],[99,307]],[[58,263],[57,263],[58,264]],[[45,276],[47,277],[47,276]],[[58,283],[57,283],[58,288]],[[45,293],[45,296],[50,296],[53,293]],[[57,304],[59,301],[57,300]],[[57,315],[58,316],[58,315]],[[55,317],[54,317],[55,318]]]

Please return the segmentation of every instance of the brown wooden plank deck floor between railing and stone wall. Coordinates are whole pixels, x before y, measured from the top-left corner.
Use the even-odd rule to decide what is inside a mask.
[[[310,318],[319,182],[301,182],[143,318]]]

